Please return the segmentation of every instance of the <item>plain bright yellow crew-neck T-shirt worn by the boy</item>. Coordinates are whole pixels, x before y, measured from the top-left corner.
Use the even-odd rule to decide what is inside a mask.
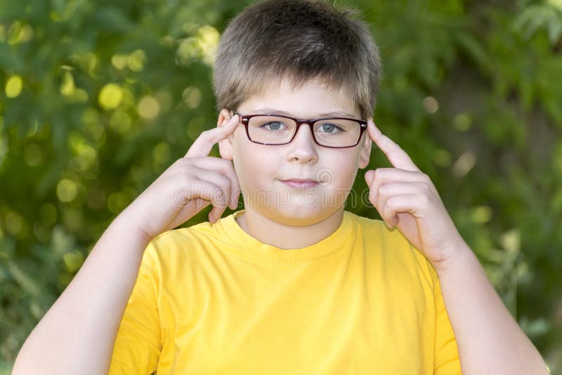
[[[110,374],[460,374],[439,279],[398,230],[344,211],[284,250],[235,216],[148,245]]]

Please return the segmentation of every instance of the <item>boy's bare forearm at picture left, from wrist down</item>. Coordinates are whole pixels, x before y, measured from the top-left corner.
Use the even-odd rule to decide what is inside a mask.
[[[105,230],[22,346],[14,375],[107,374],[115,336],[149,240],[126,211]]]

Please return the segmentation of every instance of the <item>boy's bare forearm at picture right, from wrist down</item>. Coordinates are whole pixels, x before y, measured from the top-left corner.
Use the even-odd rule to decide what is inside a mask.
[[[436,266],[462,373],[548,374],[540,353],[511,317],[471,249]]]

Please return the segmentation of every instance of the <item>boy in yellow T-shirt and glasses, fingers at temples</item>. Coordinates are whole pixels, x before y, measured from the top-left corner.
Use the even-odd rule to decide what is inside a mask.
[[[14,374],[546,373],[431,180],[374,125],[378,52],[350,15],[268,0],[230,22],[218,126],[107,228]],[[394,167],[365,173],[384,223],[344,210],[372,142]]]

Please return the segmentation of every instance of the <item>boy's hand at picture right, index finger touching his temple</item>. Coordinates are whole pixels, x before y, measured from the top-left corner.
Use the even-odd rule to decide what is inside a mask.
[[[398,228],[434,266],[455,256],[464,241],[431,179],[372,119],[367,121],[367,133],[394,166],[365,173],[369,200],[386,225]]]

